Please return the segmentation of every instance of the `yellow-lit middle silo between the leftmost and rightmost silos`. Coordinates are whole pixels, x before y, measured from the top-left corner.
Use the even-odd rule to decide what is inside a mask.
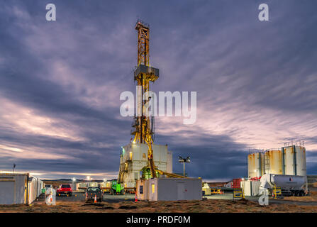
[[[265,173],[282,175],[283,165],[282,150],[272,149],[265,152]]]

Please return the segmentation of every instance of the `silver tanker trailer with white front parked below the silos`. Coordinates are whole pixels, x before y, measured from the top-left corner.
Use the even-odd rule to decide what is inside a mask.
[[[265,174],[260,181],[260,194],[265,190],[272,192],[274,187],[280,187],[284,196],[305,195],[303,187],[306,183],[306,176]]]

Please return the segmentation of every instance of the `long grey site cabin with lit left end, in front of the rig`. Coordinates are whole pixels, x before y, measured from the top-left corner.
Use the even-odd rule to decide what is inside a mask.
[[[136,190],[140,200],[174,201],[202,199],[202,181],[199,178],[138,179]]]

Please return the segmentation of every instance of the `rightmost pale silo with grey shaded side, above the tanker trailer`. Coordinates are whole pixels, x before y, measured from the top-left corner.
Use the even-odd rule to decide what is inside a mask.
[[[284,152],[284,175],[306,176],[306,149],[291,145],[282,148]]]

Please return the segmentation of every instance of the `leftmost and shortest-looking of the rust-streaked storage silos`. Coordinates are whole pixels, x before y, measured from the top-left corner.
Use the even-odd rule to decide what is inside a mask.
[[[248,155],[248,176],[260,177],[265,174],[264,153],[252,153]]]

